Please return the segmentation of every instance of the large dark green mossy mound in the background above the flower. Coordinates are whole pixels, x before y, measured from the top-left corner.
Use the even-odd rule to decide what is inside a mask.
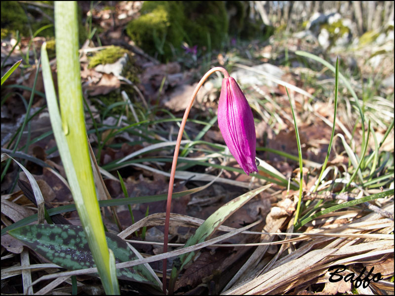
[[[142,15],[126,33],[145,52],[171,60],[182,41],[191,47],[219,48],[228,32],[223,1],[144,1]]]

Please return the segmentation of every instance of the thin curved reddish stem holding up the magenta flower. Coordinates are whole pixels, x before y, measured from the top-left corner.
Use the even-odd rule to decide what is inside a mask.
[[[220,71],[224,74],[225,78],[229,78],[228,71],[225,70],[223,67],[214,67],[214,68],[210,69],[207,73],[204,74],[204,76],[200,79],[199,83],[197,84],[197,86],[194,90],[194,93],[192,94],[191,99],[189,100],[188,106],[185,109],[184,117],[181,122],[180,131],[178,132],[176,147],[174,149],[173,164],[171,165],[169,191],[167,193],[166,218],[164,220],[163,253],[167,252],[167,243],[168,243],[168,239],[169,239],[171,197],[173,195],[174,177],[176,174],[177,159],[178,159],[178,153],[180,151],[182,134],[184,132],[185,124],[187,123],[187,118],[188,118],[189,112],[191,111],[192,104],[194,103],[197,92],[199,91],[200,87],[203,85],[204,81],[206,81],[208,76],[210,76],[215,71]],[[164,295],[166,295],[166,265],[167,265],[167,259],[163,259],[162,283],[163,283],[163,294]]]

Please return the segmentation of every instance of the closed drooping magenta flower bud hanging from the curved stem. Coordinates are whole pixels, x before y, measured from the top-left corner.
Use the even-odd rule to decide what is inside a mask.
[[[247,99],[232,77],[222,80],[218,126],[229,151],[245,173],[258,172],[254,118]]]

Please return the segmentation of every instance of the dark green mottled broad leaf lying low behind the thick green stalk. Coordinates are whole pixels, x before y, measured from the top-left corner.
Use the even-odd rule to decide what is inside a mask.
[[[26,225],[8,231],[47,260],[66,269],[96,267],[82,227],[75,225]],[[108,247],[114,252],[116,263],[138,259],[126,242],[106,232]],[[119,279],[157,285],[158,282],[144,265],[117,269]]]

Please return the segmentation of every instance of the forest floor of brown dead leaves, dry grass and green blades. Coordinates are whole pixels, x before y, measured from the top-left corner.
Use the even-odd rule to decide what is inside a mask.
[[[103,46],[116,45],[129,51],[133,62],[130,77],[135,77],[135,81],[129,83],[120,75],[119,62],[89,67],[94,54],[103,50],[103,46],[94,46],[93,38],[80,50],[88,138],[110,196],[125,197],[118,173],[128,197],[147,197],[149,201],[150,197],[167,193],[174,141],[188,99],[205,71],[212,66],[224,66],[239,83],[253,110],[259,172],[246,175],[225,148],[216,120],[222,77],[213,75],[199,91],[189,115],[174,192],[200,188],[214,179],[215,182],[173,201],[171,212],[187,218],[170,227],[169,242],[182,246],[199,225],[194,222],[195,226],[191,226],[193,218],[205,220],[226,202],[268,183],[274,185],[238,209],[223,225],[237,229],[260,221],[251,230],[289,233],[269,236],[242,233],[222,241],[223,246],[202,249],[181,273],[176,293],[327,295],[364,294],[368,292],[366,289],[375,294],[393,292],[394,241],[388,237],[394,231],[393,41],[392,49],[385,45],[384,54],[380,54],[383,50],[380,44],[324,51],[317,43],[281,33],[265,41],[233,40],[221,52],[207,53],[200,49],[195,53],[186,48],[175,61],[163,64],[124,36],[122,28],[130,13],[126,18],[118,16],[131,9],[137,11],[136,7],[120,6],[115,11],[97,10],[93,19],[102,29],[97,36]],[[45,201],[59,207],[72,204],[73,197],[59,178],[59,174],[63,178],[66,174],[37,67],[44,41],[43,37],[22,38],[13,49],[15,39],[1,40],[2,71],[23,60],[1,87],[1,153],[22,163],[38,182]],[[339,79],[335,100],[335,72],[330,66],[335,67],[336,58],[343,77]],[[56,59],[51,61],[51,66],[56,81]],[[28,116],[27,109],[30,109]],[[295,226],[293,217],[300,197],[297,137],[303,159],[303,200],[299,225]],[[318,182],[332,139],[328,163]],[[361,164],[360,160],[363,160]],[[37,213],[37,207],[29,186],[26,189],[23,185],[29,182],[26,173],[15,162],[6,168],[3,156],[1,161],[3,230]],[[355,179],[346,188],[356,167]],[[324,211],[362,197],[371,197],[371,201]],[[108,230],[119,233],[132,225],[132,219],[137,222],[154,214],[157,216],[152,219],[158,218],[158,213],[165,212],[166,204],[165,197],[160,199],[131,204],[133,217],[127,204],[117,206],[119,225],[114,213],[103,207],[104,224]],[[316,213],[320,214],[309,219]],[[80,225],[76,211],[65,210],[62,214],[71,224]],[[306,222],[301,223],[304,219]],[[143,234],[144,226],[147,228]],[[143,257],[162,253],[163,247],[155,244],[163,241],[162,224],[146,218],[141,229],[132,232],[128,239],[151,242],[133,244]],[[309,235],[326,232],[332,236],[291,235],[296,232]],[[259,242],[268,244],[252,245]],[[22,255],[19,256],[24,254],[23,250],[26,248],[18,240],[3,235],[2,231],[2,294],[25,291],[23,271],[10,269],[23,265]],[[48,263],[34,251],[28,254],[28,264]],[[159,276],[161,263],[150,263]],[[168,264],[171,268],[171,259]],[[348,266],[344,275],[359,274],[363,267],[368,272],[374,266],[374,273],[380,273],[383,280],[370,282],[368,288],[345,281],[333,283],[328,280],[328,268],[335,264]],[[32,269],[31,276],[36,280],[55,270],[59,268]],[[79,294],[104,293],[94,277],[77,279]],[[50,283],[50,280],[41,281],[34,291]],[[51,291],[70,294],[71,287],[71,280],[67,279]],[[156,293],[147,284],[120,281],[120,287],[121,294]]]

